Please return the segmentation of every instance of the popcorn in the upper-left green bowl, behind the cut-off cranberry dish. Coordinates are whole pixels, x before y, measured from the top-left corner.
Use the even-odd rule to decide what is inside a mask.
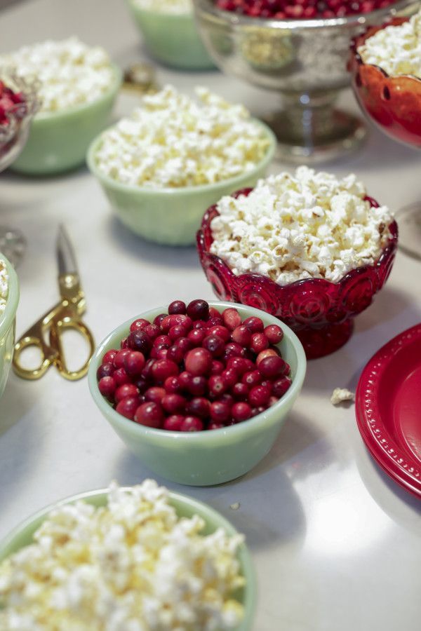
[[[99,46],[86,46],[76,37],[23,46],[0,56],[0,66],[14,66],[19,76],[39,79],[44,112],[54,112],[95,101],[109,90],[114,71]]]

